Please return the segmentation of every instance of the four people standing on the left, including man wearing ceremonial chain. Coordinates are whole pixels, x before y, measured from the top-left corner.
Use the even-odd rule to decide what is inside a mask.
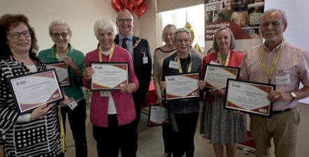
[[[64,20],[50,23],[48,31],[54,45],[38,52],[36,33],[26,16],[0,17],[0,140],[6,156],[64,156],[66,117],[76,156],[87,156],[84,87],[89,89],[95,72],[90,62],[125,62],[129,69],[129,84],[120,91],[93,91],[90,120],[98,156],[118,156],[119,151],[122,156],[136,156],[137,127],[141,106],[146,103],[152,59],[148,40],[132,34],[133,23],[129,10],[120,11],[115,23],[108,19],[96,21],[94,34],[99,47],[85,56],[73,49],[72,30]],[[48,63],[57,62],[69,68],[70,85],[61,87],[65,99],[18,114],[8,79],[47,70]],[[68,107],[70,100],[77,107]]]

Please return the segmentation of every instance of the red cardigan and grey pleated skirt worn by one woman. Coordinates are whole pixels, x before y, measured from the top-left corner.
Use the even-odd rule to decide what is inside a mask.
[[[228,66],[239,67],[243,54],[231,50]],[[206,64],[217,61],[217,52],[211,52],[203,58],[201,78],[205,76]],[[224,61],[223,61],[224,62]],[[210,140],[210,144],[236,144],[246,142],[246,115],[224,109],[224,96],[211,96],[205,89],[203,109],[201,114],[200,133]]]

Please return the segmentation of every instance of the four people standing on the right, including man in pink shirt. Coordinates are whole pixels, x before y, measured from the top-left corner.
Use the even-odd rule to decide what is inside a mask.
[[[309,96],[308,52],[286,43],[283,32],[287,28],[284,11],[269,9],[261,16],[260,31],[265,42],[242,52],[236,52],[235,38],[228,27],[217,29],[213,52],[196,59],[190,50],[190,33],[167,25],[162,33],[166,45],[154,54],[154,83],[157,103],[168,108],[170,125],[162,127],[164,154],[162,156],[194,156],[194,133],[199,102],[194,98],[164,101],[166,84],[162,75],[201,73],[198,86],[203,97],[200,133],[213,144],[215,155],[236,156],[236,144],[246,142],[247,119],[242,112],[224,109],[224,89],[206,88],[203,81],[206,65],[215,64],[240,68],[240,80],[275,84],[267,98],[273,103],[272,117],[250,114],[250,131],[255,142],[256,156],[270,155],[271,140],[275,156],[296,156],[296,137],[299,126],[299,99]],[[288,61],[290,60],[290,61]],[[288,64],[287,64],[288,63]],[[176,66],[173,66],[176,65]],[[178,66],[177,66],[178,65]],[[195,67],[195,68],[194,68]],[[201,67],[201,68],[197,68]],[[265,67],[265,68],[264,68]],[[282,81],[280,78],[284,78]],[[303,88],[299,89],[300,82]],[[177,126],[175,128],[175,126]],[[185,126],[185,127],[184,127]],[[177,138],[181,137],[182,140]]]

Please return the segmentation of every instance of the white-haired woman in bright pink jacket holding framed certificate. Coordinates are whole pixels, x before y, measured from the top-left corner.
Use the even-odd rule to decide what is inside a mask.
[[[139,84],[130,54],[122,47],[114,45],[117,27],[111,20],[96,21],[94,34],[100,46],[86,54],[83,74],[85,87],[93,90],[90,120],[98,156],[117,157],[119,150],[122,156],[136,156],[136,125],[133,123],[136,112],[131,93],[138,89]],[[127,67],[127,70],[123,72],[122,67]],[[105,88],[108,85],[104,84],[123,79],[117,77],[119,73],[128,77],[119,83],[121,88],[117,85],[114,89]],[[99,86],[100,84],[103,85]]]

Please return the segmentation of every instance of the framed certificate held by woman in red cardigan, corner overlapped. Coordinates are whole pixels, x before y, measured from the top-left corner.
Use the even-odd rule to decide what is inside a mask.
[[[239,70],[240,68],[207,64],[204,78],[206,87],[210,89],[225,89],[228,78],[238,79]]]

